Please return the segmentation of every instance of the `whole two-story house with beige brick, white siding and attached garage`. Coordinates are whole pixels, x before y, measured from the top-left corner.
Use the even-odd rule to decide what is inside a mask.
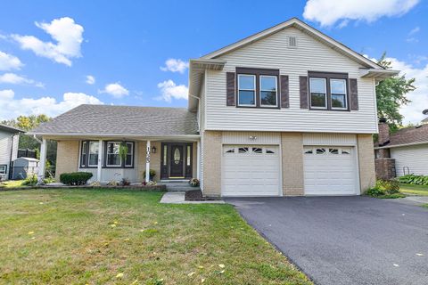
[[[206,196],[358,195],[374,183],[374,86],[397,71],[298,19],[189,65],[187,110],[79,106],[32,132],[41,159],[53,139],[56,175],[141,182],[150,167],[156,180],[199,178]]]

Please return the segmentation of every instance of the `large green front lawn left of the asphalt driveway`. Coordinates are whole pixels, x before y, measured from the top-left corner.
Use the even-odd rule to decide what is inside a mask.
[[[233,207],[161,195],[0,191],[0,283],[311,284]]]

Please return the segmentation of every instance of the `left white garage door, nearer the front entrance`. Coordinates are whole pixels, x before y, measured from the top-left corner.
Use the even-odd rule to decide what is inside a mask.
[[[278,196],[279,158],[278,146],[223,146],[222,195]]]

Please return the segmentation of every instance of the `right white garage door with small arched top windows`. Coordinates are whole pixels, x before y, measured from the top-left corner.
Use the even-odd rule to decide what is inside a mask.
[[[303,156],[306,195],[358,193],[353,147],[305,146]]]

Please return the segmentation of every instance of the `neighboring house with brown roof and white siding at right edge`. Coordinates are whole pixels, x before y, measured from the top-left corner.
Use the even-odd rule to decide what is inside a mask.
[[[379,123],[374,144],[376,175],[383,179],[407,174],[428,175],[428,121],[390,134],[388,124]]]

